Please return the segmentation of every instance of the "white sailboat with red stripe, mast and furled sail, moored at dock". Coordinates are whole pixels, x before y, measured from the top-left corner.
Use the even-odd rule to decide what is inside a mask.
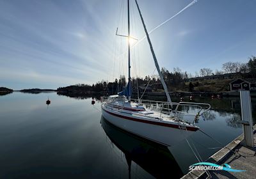
[[[168,93],[166,83],[164,82],[163,74],[161,74],[152,43],[150,41],[145,22],[141,15],[140,7],[137,0],[135,0],[138,12],[140,13],[141,22],[143,24],[148,43],[150,45],[150,51],[156,65],[157,72],[159,74],[161,83],[163,84],[164,92],[166,94],[168,102],[163,102],[162,106],[168,105],[171,108],[169,113],[163,113],[163,111],[149,110],[143,104],[139,104],[131,101],[131,63],[130,63],[130,43],[128,42],[128,83],[126,88],[118,93],[117,95],[111,95],[108,97],[106,102],[101,105],[102,116],[109,121],[109,123],[115,125],[137,136],[144,137],[151,141],[159,144],[164,144],[165,146],[173,146],[180,141],[186,139],[187,137],[194,134],[199,127],[195,125],[195,121],[200,112],[195,114],[195,121],[190,123],[185,120],[178,118],[177,113],[180,105],[206,105],[207,109],[204,113],[208,111],[211,107],[209,104],[197,104],[189,102],[179,102],[173,103]],[[129,0],[127,0],[127,12],[128,12],[128,36],[130,37],[130,15],[129,15]],[[128,40],[129,41],[129,40]],[[176,108],[172,110],[173,105]],[[202,111],[202,110],[200,110]],[[202,113],[201,113],[202,114]]]

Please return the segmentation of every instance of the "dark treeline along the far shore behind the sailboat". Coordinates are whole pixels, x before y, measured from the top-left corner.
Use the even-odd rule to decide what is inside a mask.
[[[164,81],[168,88],[172,88],[177,86],[178,88],[188,88],[191,91],[198,84],[190,84],[189,86],[185,86],[186,79],[191,77],[205,77],[209,75],[221,75],[221,74],[230,74],[230,73],[247,73],[250,74],[250,77],[256,77],[256,57],[252,56],[249,58],[248,63],[239,63],[239,62],[227,62],[222,65],[222,70],[216,70],[213,72],[211,68],[202,68],[200,72],[196,72],[195,75],[188,74],[187,72],[182,72],[179,67],[173,68],[173,72],[169,72],[166,68],[161,69],[161,73],[163,74]],[[198,75],[200,74],[200,75]],[[132,84],[134,88],[136,86],[146,86],[149,82],[149,85],[152,84],[160,84],[159,88],[161,88],[161,81],[159,80],[158,75],[145,76],[132,78]],[[93,92],[108,92],[108,93],[117,93],[118,91],[122,91],[122,88],[127,84],[127,80],[124,75],[121,75],[119,79],[115,79],[113,82],[108,81],[99,81],[96,84],[88,85],[88,84],[76,84],[72,86],[67,86],[64,88],[58,88],[57,91],[61,91],[63,93],[82,93],[82,91],[93,91]]]

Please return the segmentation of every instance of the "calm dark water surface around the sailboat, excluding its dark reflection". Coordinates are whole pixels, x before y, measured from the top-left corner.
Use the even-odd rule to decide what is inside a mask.
[[[0,96],[0,178],[179,178],[197,162],[186,141],[171,153],[113,127],[102,118],[100,102],[91,100],[56,93]],[[198,123],[207,134],[227,144],[242,133],[239,98],[197,100],[213,107]],[[189,142],[204,160],[221,146],[202,132]]]

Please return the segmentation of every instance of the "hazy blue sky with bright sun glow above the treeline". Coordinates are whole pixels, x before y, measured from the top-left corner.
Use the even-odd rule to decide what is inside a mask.
[[[145,36],[130,0],[131,36]],[[138,0],[148,31],[192,1]],[[150,33],[159,66],[190,74],[256,56],[255,0],[198,0]],[[93,84],[127,77],[126,0],[0,0],[0,86]],[[156,74],[147,40],[131,44],[132,77]]]

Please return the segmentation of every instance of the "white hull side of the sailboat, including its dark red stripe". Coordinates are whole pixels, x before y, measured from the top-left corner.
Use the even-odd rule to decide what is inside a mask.
[[[195,130],[198,129],[196,128],[195,130],[184,130],[184,128],[180,129],[148,123],[145,118],[143,120],[143,118],[138,116],[132,116],[131,114],[124,114],[118,111],[113,111],[104,105],[105,104],[102,104],[103,117],[116,127],[122,128],[123,130],[141,137],[145,137],[157,143],[164,144],[166,146],[174,146],[175,144],[184,140],[186,137],[194,134]]]

